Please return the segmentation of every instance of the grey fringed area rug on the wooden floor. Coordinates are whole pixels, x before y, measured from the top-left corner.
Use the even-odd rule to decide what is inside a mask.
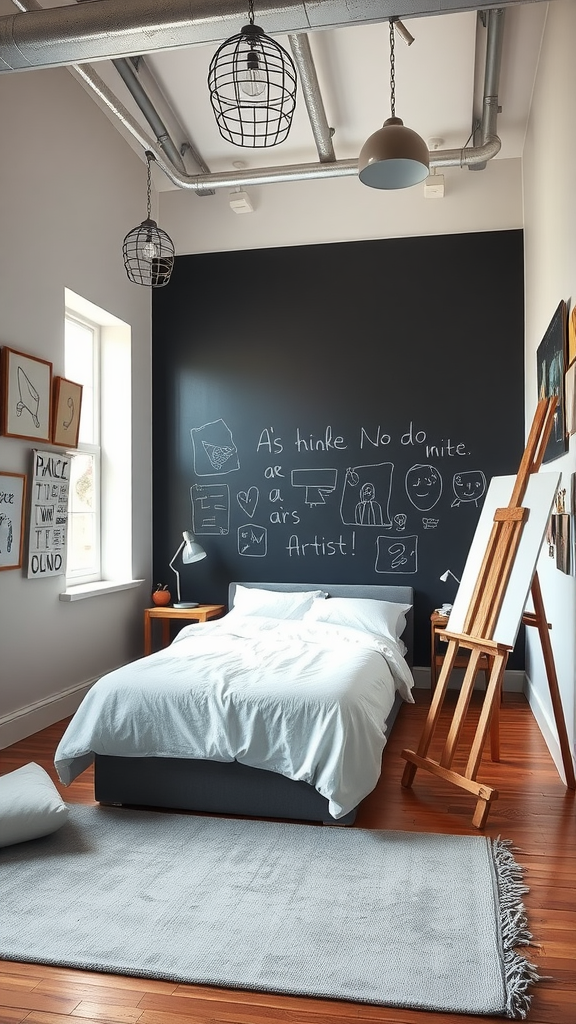
[[[484,836],[71,806],[0,850],[0,957],[523,1018],[525,892]]]

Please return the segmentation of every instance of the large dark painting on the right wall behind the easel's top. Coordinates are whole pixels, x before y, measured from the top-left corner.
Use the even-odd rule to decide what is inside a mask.
[[[538,369],[538,399],[556,394],[558,404],[552,430],[546,444],[543,462],[551,462],[568,451],[566,416],[564,404],[564,372],[566,366],[567,315],[564,299],[548,325],[538,345],[536,362]]]

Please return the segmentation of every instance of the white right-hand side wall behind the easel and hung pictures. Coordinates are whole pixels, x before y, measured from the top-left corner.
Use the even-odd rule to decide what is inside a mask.
[[[527,428],[537,400],[536,349],[561,299],[570,306],[576,302],[575,39],[576,4],[573,0],[554,0],[548,5],[523,160]],[[543,469],[561,471],[561,486],[570,494],[570,477],[576,471],[576,435],[570,438],[569,452]],[[543,552],[538,575],[552,626],[550,639],[570,748],[574,752],[576,573],[574,568],[571,575],[560,572],[556,562]],[[560,768],[558,734],[540,644],[533,630],[527,632],[530,701]]]

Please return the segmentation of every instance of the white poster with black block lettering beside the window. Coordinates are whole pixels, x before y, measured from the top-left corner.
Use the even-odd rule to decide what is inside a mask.
[[[33,450],[28,578],[66,572],[70,456]]]

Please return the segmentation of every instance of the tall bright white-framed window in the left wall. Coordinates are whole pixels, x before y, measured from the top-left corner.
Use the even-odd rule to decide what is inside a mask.
[[[66,289],[65,371],[82,384],[72,454],[65,601],[132,580],[131,332]]]

